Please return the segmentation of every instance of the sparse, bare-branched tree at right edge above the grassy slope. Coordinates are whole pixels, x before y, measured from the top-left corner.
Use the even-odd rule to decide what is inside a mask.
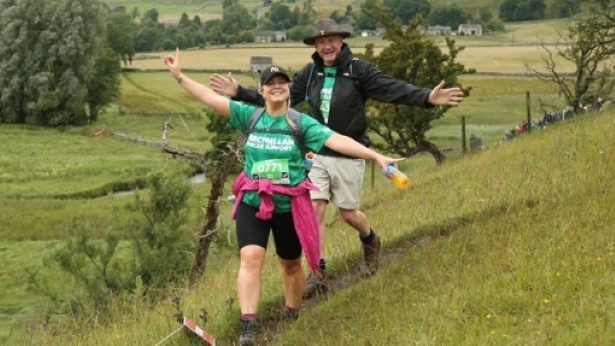
[[[529,71],[553,83],[569,104],[596,96],[605,97],[613,92],[614,2],[587,0],[582,12],[569,22],[568,32],[559,34],[555,48],[541,44],[546,52],[543,62],[547,72],[538,71],[526,63]],[[572,75],[561,69],[559,59],[573,64]]]

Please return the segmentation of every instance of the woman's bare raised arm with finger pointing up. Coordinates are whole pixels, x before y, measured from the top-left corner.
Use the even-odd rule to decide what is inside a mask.
[[[175,55],[167,55],[164,57],[164,64],[169,66],[169,71],[171,71],[173,78],[175,78],[179,85],[181,85],[192,97],[217,110],[223,116],[229,117],[231,107],[228,98],[219,95],[212,89],[181,73],[179,67],[179,48],[175,50]]]

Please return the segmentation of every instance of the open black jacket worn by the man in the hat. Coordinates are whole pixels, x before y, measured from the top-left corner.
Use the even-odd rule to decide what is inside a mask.
[[[309,115],[324,124],[320,112],[320,92],[324,83],[324,64],[317,52],[312,54],[313,63],[305,65],[293,77],[291,106],[307,102]],[[380,72],[371,61],[353,58],[346,43],[337,57],[337,75],[331,97],[329,122],[333,131],[352,137],[368,146],[367,117],[365,102],[374,99],[381,102],[409,106],[431,107],[427,102],[431,89],[418,88],[404,81],[391,78]],[[264,100],[255,90],[241,86],[235,100],[262,105]],[[344,156],[329,148],[323,148],[321,155]]]

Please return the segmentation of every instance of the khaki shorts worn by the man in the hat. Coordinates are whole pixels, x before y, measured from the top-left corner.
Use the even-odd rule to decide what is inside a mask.
[[[320,189],[312,199],[331,201],[342,209],[359,209],[365,160],[315,155],[309,178]]]

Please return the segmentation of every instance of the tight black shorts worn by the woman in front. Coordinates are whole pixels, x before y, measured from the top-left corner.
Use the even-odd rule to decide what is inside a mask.
[[[246,245],[258,245],[266,249],[271,231],[278,257],[285,260],[301,257],[301,243],[295,231],[292,213],[273,213],[270,220],[263,221],[256,217],[257,212],[258,208],[244,202],[239,203],[237,207],[236,227],[239,249]]]

